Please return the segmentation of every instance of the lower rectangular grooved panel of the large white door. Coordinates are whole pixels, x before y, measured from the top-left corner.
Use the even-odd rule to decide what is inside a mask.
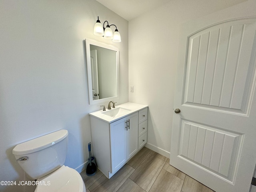
[[[234,182],[243,134],[181,120],[178,156]]]

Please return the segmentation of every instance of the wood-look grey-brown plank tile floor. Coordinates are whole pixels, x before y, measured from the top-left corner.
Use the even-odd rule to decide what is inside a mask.
[[[81,176],[86,192],[214,192],[170,166],[169,159],[143,147],[112,178],[97,170]]]

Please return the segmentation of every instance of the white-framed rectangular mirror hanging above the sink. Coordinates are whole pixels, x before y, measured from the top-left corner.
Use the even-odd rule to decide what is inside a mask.
[[[119,98],[118,48],[85,40],[89,104]]]

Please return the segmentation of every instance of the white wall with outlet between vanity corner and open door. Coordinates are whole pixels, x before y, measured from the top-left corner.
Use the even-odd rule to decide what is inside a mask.
[[[243,1],[173,0],[129,21],[129,102],[149,106],[148,148],[170,154],[180,25],[219,10],[230,19],[256,15],[256,1]]]

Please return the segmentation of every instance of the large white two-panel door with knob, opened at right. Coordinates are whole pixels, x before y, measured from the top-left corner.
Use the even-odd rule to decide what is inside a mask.
[[[256,18],[194,22],[180,32],[170,164],[216,192],[248,192],[256,164]]]

